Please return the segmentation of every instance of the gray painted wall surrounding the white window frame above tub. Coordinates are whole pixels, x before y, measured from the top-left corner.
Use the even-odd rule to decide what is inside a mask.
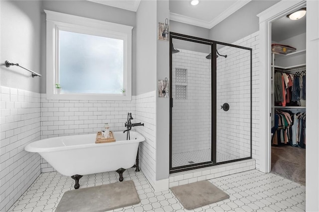
[[[78,15],[87,18],[109,21],[124,25],[134,26],[132,31],[132,95],[136,95],[136,12],[120,9],[112,6],[94,3],[85,0],[44,0],[42,1],[42,9],[63,12],[72,15]],[[41,27],[42,27],[42,70],[46,67],[46,24],[45,13],[41,11]],[[43,72],[43,80],[41,81],[41,93],[46,91],[46,75]]]

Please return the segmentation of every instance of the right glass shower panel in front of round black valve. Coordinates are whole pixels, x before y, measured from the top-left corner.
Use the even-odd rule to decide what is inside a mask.
[[[226,45],[217,45],[217,49],[219,57],[216,60],[216,162],[218,164],[251,157],[252,78],[251,49]],[[226,108],[223,108],[223,105]]]

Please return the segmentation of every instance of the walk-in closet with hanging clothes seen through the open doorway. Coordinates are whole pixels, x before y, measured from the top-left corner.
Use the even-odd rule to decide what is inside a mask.
[[[271,172],[305,185],[306,16],[272,22],[271,48]]]

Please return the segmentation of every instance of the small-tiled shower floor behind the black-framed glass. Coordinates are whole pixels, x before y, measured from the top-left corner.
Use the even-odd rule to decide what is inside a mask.
[[[234,160],[234,159],[235,158],[224,155],[220,152],[216,153],[217,163]],[[172,167],[185,166],[185,165],[195,164],[195,163],[203,163],[210,160],[211,160],[211,149],[175,153],[175,154],[172,154]],[[189,163],[190,161],[194,163]]]

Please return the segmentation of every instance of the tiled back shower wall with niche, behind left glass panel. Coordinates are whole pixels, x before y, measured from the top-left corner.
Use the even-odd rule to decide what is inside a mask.
[[[211,148],[211,72],[207,53],[172,55],[172,153]]]

